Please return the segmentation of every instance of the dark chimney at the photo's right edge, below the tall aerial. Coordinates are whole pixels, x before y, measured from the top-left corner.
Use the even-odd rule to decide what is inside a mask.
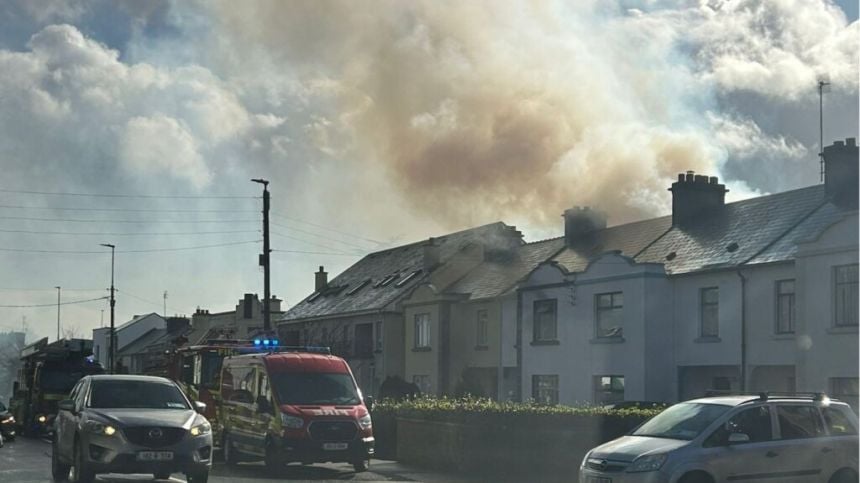
[[[824,191],[834,204],[857,208],[858,163],[855,138],[824,148]]]

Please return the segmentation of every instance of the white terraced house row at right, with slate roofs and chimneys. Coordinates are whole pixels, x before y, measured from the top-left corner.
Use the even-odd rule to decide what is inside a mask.
[[[549,403],[674,401],[709,389],[858,394],[858,151],[826,181],[725,203],[681,174],[671,216],[566,213],[565,248],[520,289],[522,386]]]

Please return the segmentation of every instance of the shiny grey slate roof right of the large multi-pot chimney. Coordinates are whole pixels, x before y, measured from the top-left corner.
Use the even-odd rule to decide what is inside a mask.
[[[790,260],[796,240],[783,237],[805,220],[809,228],[824,221],[813,215],[825,202],[824,185],[816,185],[728,203],[717,215],[673,227],[635,259],[662,263],[673,275],[735,267],[766,252],[762,260]]]

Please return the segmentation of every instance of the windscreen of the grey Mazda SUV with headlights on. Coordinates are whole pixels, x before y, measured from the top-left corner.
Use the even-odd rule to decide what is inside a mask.
[[[88,407],[97,409],[191,409],[178,387],[150,381],[93,381]]]

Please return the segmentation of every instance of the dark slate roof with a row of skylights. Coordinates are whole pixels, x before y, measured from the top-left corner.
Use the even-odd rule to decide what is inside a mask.
[[[434,238],[444,263],[457,251],[470,243],[488,242],[498,236],[513,236],[514,229],[497,222]],[[336,314],[381,310],[411,290],[427,277],[424,273],[424,246],[426,240],[371,253],[343,273],[330,280],[321,294],[311,294],[288,310],[280,321],[325,317]],[[418,272],[421,270],[420,272]],[[416,273],[417,272],[417,273]],[[408,282],[399,285],[410,274]],[[396,275],[384,286],[374,286],[389,276]],[[352,292],[365,281],[356,292]],[[398,286],[399,285],[399,286]]]

